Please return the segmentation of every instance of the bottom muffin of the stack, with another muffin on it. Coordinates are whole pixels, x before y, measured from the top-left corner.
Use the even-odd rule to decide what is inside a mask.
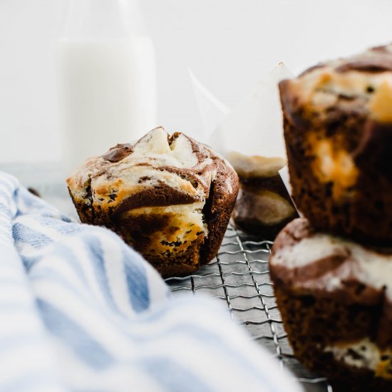
[[[269,260],[294,355],[334,391],[392,391],[392,249],[370,249],[296,219]]]

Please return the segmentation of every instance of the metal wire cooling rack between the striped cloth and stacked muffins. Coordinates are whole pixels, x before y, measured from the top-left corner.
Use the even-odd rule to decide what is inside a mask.
[[[289,368],[309,392],[331,392],[326,378],[317,377],[294,359],[269,279],[272,242],[260,241],[229,225],[217,257],[197,274],[165,279],[173,293],[202,292],[225,301],[233,320]]]

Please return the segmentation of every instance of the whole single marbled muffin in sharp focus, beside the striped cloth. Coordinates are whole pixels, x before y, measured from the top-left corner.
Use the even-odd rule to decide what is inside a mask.
[[[113,229],[163,277],[215,257],[238,193],[226,160],[163,128],[86,160],[67,182],[82,222]]]

